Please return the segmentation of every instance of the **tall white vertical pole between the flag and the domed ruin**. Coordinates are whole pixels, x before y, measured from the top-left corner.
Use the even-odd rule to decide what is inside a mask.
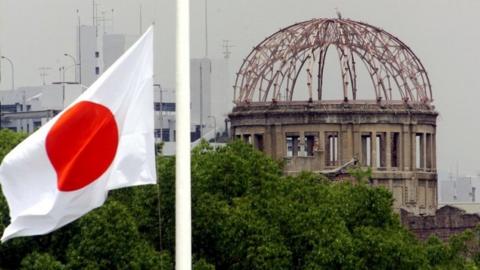
[[[189,0],[177,0],[175,268],[192,268]]]

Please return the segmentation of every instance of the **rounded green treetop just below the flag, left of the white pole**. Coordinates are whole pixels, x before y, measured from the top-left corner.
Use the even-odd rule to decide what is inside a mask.
[[[152,269],[159,254],[140,236],[134,217],[121,203],[108,201],[78,221],[67,249],[70,269]]]

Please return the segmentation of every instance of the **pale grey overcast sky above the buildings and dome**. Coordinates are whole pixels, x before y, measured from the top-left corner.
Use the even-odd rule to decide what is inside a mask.
[[[204,1],[191,1],[192,57],[204,56]],[[139,33],[142,6],[143,28],[156,22],[155,80],[174,87],[175,1],[97,3],[99,10],[114,9],[114,32],[131,35]],[[295,22],[335,17],[336,8],[343,17],[380,27],[412,48],[428,71],[440,112],[439,169],[455,171],[458,162],[461,172],[480,172],[478,0],[208,0],[209,56],[222,57],[222,40],[230,40],[235,46],[229,63],[233,77],[242,59],[266,36]],[[82,24],[91,24],[92,1],[0,0],[0,50],[14,61],[17,87],[41,84],[42,66],[52,68],[47,81],[57,80],[55,70],[71,63],[63,53],[75,54],[76,9]],[[9,72],[2,62],[0,89],[10,88]]]

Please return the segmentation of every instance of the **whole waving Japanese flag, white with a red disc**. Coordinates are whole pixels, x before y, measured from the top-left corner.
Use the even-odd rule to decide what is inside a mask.
[[[49,233],[108,191],[156,183],[153,27],[71,105],[3,160],[10,238]]]

